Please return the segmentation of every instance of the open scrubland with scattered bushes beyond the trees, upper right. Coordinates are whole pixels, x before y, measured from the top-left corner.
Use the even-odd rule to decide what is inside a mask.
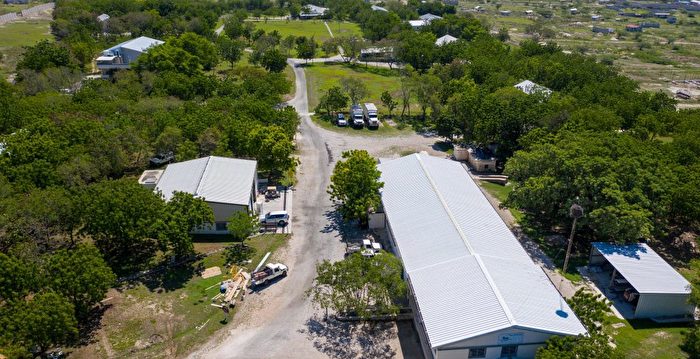
[[[477,5],[482,7],[482,12],[473,10]],[[578,9],[578,14],[570,13],[569,9],[573,7]],[[536,30],[537,27],[548,29],[553,37],[542,36],[540,41],[553,41],[566,51],[613,61],[624,74],[639,81],[643,89],[662,90],[668,94],[673,94],[679,87],[698,90],[694,85],[672,82],[700,79],[700,27],[696,14],[673,12],[672,16],[677,17],[678,21],[669,24],[665,19],[654,17],[624,17],[618,11],[597,3],[502,1],[497,6],[495,3],[463,1],[460,2],[460,10],[487,22],[492,30],[508,29],[513,44],[531,38],[535,32],[542,33]],[[501,10],[512,13],[501,16]],[[526,10],[535,13],[528,16]],[[641,9],[625,11],[645,12]],[[545,13],[551,13],[551,17],[545,18],[542,15]],[[591,15],[601,15],[603,18],[594,21]],[[656,22],[660,26],[645,28],[641,33],[625,31],[625,25],[645,21]],[[609,35],[595,34],[592,32],[594,26],[612,28],[614,32]],[[682,103],[692,105],[698,101]]]

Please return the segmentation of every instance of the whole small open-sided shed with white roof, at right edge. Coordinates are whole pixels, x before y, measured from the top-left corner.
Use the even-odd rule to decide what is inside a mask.
[[[594,242],[590,266],[612,270],[608,286],[624,292],[634,307],[634,318],[670,320],[692,315],[690,283],[645,243]],[[635,293],[636,292],[636,293]]]

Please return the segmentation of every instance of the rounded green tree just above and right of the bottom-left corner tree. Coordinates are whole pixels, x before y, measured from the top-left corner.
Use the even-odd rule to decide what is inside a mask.
[[[43,269],[46,285],[73,304],[78,318],[87,316],[116,279],[97,248],[90,245],[54,252]]]

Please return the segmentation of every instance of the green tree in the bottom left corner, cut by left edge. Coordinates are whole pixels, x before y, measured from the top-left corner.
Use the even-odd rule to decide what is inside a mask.
[[[74,312],[66,298],[53,292],[12,302],[0,307],[0,342],[40,353],[55,345],[69,344],[78,337]]]

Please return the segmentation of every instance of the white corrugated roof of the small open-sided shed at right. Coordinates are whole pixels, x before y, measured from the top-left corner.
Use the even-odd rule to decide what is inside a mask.
[[[639,293],[690,293],[690,283],[645,243],[594,242],[593,247]]]

